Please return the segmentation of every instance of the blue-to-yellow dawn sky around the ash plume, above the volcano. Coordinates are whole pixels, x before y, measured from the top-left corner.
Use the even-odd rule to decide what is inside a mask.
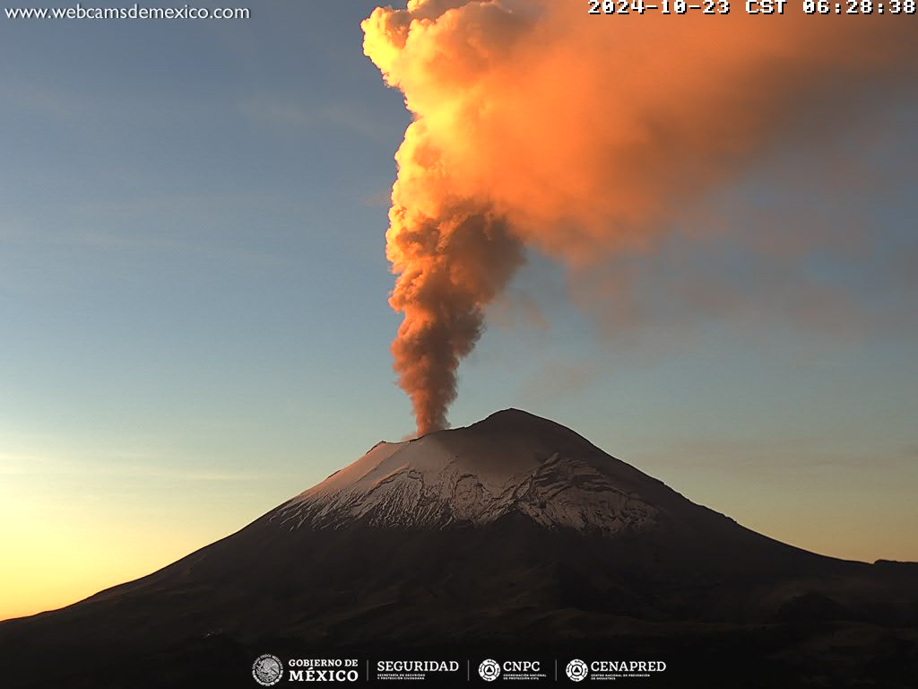
[[[374,7],[0,17],[0,619],[412,431],[384,238],[411,119],[364,56]],[[918,560],[918,105],[849,105],[652,253],[572,275],[530,250],[453,425],[526,409],[767,536]]]

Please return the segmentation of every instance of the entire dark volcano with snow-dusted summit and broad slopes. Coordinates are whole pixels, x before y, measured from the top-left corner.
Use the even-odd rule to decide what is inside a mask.
[[[379,443],[162,570],[0,623],[0,683],[252,686],[266,649],[614,650],[681,686],[912,686],[918,563],[793,548],[507,410]]]

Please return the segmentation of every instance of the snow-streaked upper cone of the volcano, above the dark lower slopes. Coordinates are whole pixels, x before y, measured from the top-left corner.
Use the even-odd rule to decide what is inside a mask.
[[[507,410],[467,428],[379,443],[272,519],[291,528],[482,525],[516,511],[546,527],[614,534],[655,523],[646,493],[660,487],[564,426]]]

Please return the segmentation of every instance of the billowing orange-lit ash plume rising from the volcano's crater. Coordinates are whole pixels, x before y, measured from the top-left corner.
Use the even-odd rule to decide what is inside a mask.
[[[420,433],[447,424],[459,361],[524,247],[568,265],[653,247],[791,125],[836,123],[914,74],[909,17],[733,5],[604,17],[582,0],[410,0],[364,20],[364,51],[414,114],[386,255]]]

